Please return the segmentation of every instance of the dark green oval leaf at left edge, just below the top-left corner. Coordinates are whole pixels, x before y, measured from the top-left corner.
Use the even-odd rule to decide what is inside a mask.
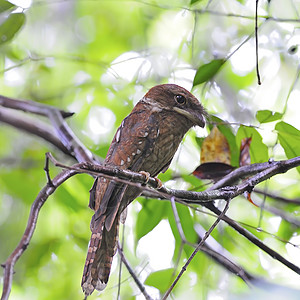
[[[23,13],[10,14],[0,25],[0,45],[13,39],[24,23],[25,15]]]

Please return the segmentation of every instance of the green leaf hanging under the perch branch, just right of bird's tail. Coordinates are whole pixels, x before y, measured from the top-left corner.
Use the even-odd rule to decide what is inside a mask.
[[[162,220],[167,210],[168,202],[156,199],[140,199],[143,208],[138,214],[135,226],[135,241],[138,242]]]

